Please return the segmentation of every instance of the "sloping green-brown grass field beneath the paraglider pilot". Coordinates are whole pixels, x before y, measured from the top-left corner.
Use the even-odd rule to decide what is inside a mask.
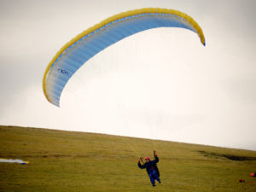
[[[256,191],[256,151],[15,126],[0,126],[0,146],[0,158],[31,162],[0,163],[0,191]],[[154,148],[155,188],[137,167]]]

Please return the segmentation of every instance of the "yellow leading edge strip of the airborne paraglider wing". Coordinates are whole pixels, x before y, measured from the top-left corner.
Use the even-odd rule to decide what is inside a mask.
[[[69,42],[67,42],[67,44],[65,44],[63,47],[61,47],[61,49],[52,58],[52,60],[49,62],[48,66],[46,67],[46,70],[44,72],[44,79],[43,79],[44,96],[46,96],[47,100],[49,101],[49,96],[47,96],[47,92],[46,92],[46,89],[45,89],[45,80],[46,80],[47,74],[48,74],[49,69],[52,66],[52,64],[65,51],[65,49],[67,49],[69,46],[71,46],[72,44],[77,42],[80,38],[83,38],[84,36],[86,36],[90,32],[96,31],[97,29],[101,28],[102,26],[107,25],[108,23],[112,22],[113,20],[119,20],[119,19],[127,17],[127,16],[148,14],[148,13],[151,13],[151,14],[154,14],[154,13],[172,14],[172,15],[177,15],[179,17],[182,17],[184,20],[188,20],[189,23],[195,28],[196,32],[198,33],[198,35],[201,39],[201,44],[205,45],[205,38],[204,38],[204,34],[201,30],[201,27],[197,24],[197,22],[195,20],[193,20],[192,17],[190,17],[189,15],[186,15],[183,12],[178,11],[178,10],[160,9],[160,8],[143,8],[143,9],[135,9],[135,10],[126,11],[126,12],[120,13],[118,15],[113,15],[113,16],[109,17],[106,20],[102,20],[102,22],[96,24],[95,26],[91,26],[90,28],[88,28],[84,32],[81,32],[75,38],[72,38]]]

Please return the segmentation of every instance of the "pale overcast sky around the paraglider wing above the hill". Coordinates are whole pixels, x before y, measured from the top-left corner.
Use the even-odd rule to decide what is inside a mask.
[[[97,22],[144,7],[181,10],[205,33],[159,28],[102,51],[73,76],[61,108],[45,67]],[[90,131],[256,150],[255,1],[0,0],[0,125]]]

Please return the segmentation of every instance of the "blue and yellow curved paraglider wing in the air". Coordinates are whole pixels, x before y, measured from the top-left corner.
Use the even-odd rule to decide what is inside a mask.
[[[147,8],[113,15],[80,33],[57,52],[44,73],[44,95],[49,102],[60,106],[64,86],[84,62],[123,38],[156,27],[189,29],[196,32],[205,45],[201,27],[189,15],[177,10]]]

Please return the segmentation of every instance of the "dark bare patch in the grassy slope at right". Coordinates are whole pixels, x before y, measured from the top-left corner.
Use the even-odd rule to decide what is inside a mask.
[[[198,151],[200,154],[203,154],[206,157],[222,157],[229,160],[256,160],[256,157],[248,157],[248,156],[240,156],[235,154],[217,154],[214,152],[207,152],[207,151]]]

